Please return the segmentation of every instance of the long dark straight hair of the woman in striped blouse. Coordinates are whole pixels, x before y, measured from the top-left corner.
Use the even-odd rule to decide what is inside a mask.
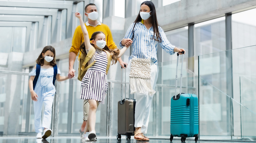
[[[141,5],[143,5],[143,4],[147,5],[150,8],[150,11],[151,11],[151,16],[149,18],[151,19],[151,22],[152,22],[154,35],[156,35],[156,37],[157,37],[156,39],[155,39],[155,37],[153,37],[153,39],[161,42],[162,40],[160,38],[160,34],[159,34],[159,30],[158,30],[158,21],[157,21],[157,13],[156,13],[155,5],[151,1],[144,1],[144,2],[141,3]],[[139,13],[140,13],[140,11],[139,11]],[[134,21],[135,24],[133,26],[132,40],[134,38],[134,27],[138,22],[141,22],[141,20],[142,20],[142,18],[140,17],[140,14],[138,14],[136,20]]]

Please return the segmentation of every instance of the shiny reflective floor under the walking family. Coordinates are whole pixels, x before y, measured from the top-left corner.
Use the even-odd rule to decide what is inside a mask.
[[[181,143],[180,138],[174,138],[170,142],[168,137],[149,137],[150,143]],[[85,141],[79,136],[58,136],[58,137],[48,137],[47,139],[36,139],[35,136],[2,136],[0,137],[0,143],[148,143],[148,141],[137,141],[133,139],[133,136],[130,140],[126,140],[125,136],[122,136],[120,140],[117,140],[116,137],[97,137],[96,141]],[[187,138],[186,143],[195,143],[194,138]],[[244,141],[202,141],[198,140],[197,143],[248,143]]]

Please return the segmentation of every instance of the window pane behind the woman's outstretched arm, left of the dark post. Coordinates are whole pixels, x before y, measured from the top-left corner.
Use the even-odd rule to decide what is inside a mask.
[[[170,43],[178,48],[183,48],[187,50],[188,45],[188,26],[182,27],[179,29],[171,30],[165,32],[167,39],[170,41]],[[160,46],[159,46],[160,47]],[[163,51],[163,49],[162,49]],[[162,52],[162,62],[165,61],[171,61],[176,60],[177,56],[170,56],[165,51]],[[185,57],[188,56],[188,54],[184,55]],[[184,58],[185,58],[184,57]]]

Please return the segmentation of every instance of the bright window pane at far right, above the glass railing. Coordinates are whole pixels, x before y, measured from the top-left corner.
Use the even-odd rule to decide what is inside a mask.
[[[232,48],[256,45],[256,8],[232,14]]]

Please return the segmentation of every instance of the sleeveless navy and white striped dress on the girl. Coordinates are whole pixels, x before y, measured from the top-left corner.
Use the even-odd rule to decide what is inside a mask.
[[[96,62],[90,67],[81,83],[80,99],[94,99],[101,104],[104,104],[108,83],[107,83],[107,54],[106,52],[95,51]]]

